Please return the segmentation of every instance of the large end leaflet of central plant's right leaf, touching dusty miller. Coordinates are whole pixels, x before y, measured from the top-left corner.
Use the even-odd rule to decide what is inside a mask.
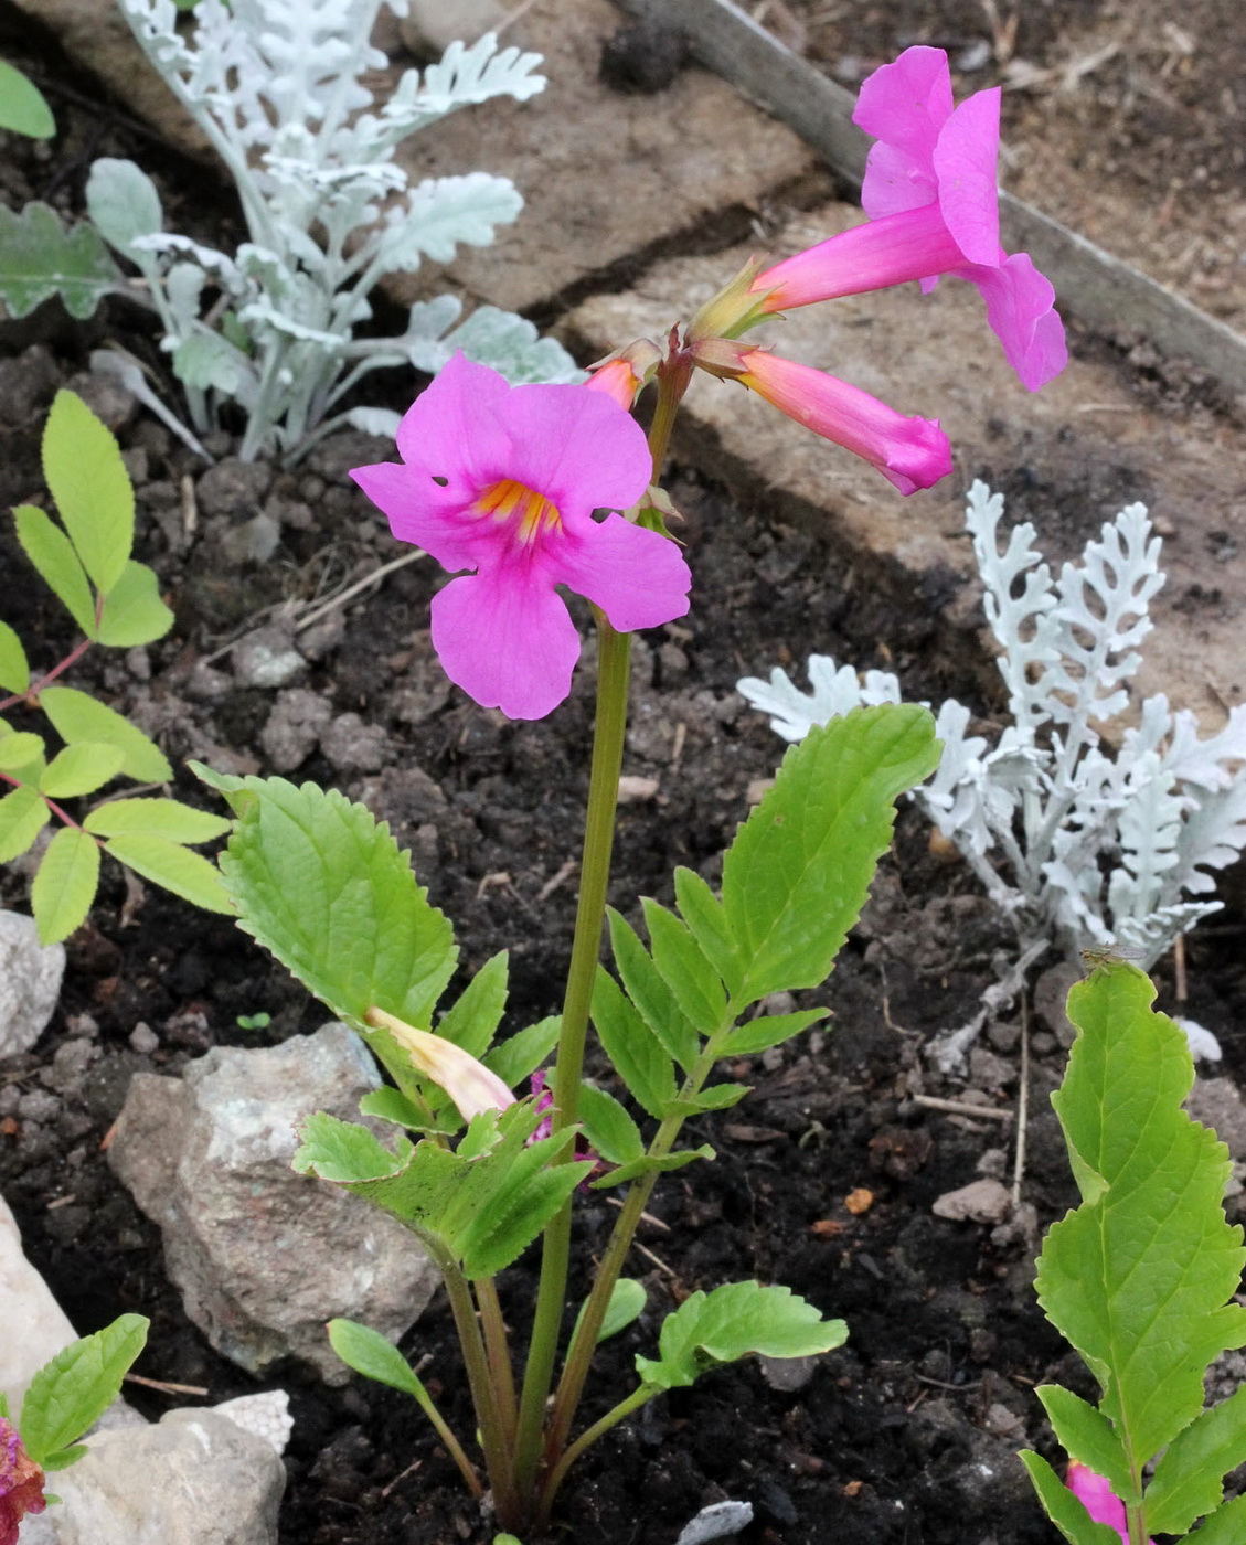
[[[744,980],[737,1006],[826,981],[856,921],[895,799],[934,771],[929,712],[856,709],[812,729],[722,864],[722,907]]]

